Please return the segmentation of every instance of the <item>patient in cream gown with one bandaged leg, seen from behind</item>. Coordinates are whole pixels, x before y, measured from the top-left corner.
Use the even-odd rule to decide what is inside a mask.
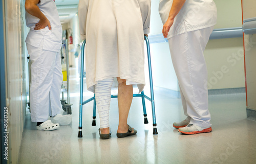
[[[145,85],[144,34],[149,33],[151,0],[80,0],[81,39],[86,39],[86,81],[95,92],[100,136],[109,138],[111,86],[118,80],[118,137],[136,134],[127,125],[133,84]]]

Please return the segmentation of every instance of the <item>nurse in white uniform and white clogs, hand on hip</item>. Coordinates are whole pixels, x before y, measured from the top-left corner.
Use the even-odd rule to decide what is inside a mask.
[[[31,121],[37,123],[37,130],[55,130],[72,121],[70,114],[60,114],[62,27],[54,0],[26,0],[25,9],[30,28],[26,43],[32,62]]]

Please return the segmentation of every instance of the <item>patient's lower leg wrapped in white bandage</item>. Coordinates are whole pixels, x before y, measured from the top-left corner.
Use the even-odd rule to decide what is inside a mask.
[[[99,112],[100,128],[108,128],[109,125],[109,111],[111,99],[111,87],[114,78],[104,79],[98,81],[95,85],[95,100]]]

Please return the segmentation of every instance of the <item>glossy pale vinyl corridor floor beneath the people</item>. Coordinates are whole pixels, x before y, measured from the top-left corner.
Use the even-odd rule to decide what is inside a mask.
[[[196,135],[180,134],[172,126],[173,122],[185,119],[181,100],[155,91],[158,135],[153,135],[151,103],[146,100],[149,124],[143,124],[141,99],[134,98],[128,123],[138,133],[117,138],[118,106],[117,99],[113,98],[112,136],[102,140],[98,134],[98,115],[96,127],[91,126],[93,103],[90,102],[83,106],[83,137],[78,138],[76,72],[76,68],[71,68],[72,123],[55,131],[39,131],[27,111],[18,163],[256,163],[256,122],[246,119],[245,93],[209,96],[212,132]],[[84,100],[92,96],[91,92],[84,91]]]

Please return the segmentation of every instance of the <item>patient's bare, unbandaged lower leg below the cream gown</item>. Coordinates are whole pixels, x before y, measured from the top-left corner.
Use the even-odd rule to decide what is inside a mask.
[[[127,118],[133,100],[133,85],[126,85],[126,80],[117,77],[118,81],[118,111],[119,111],[119,125],[117,132],[126,133],[129,129],[127,125]],[[132,131],[133,133],[134,131]]]

